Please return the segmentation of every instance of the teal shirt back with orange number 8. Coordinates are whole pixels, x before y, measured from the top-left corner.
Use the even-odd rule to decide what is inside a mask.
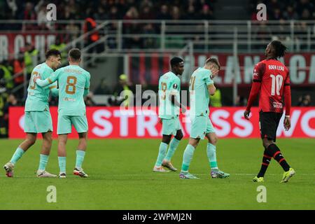
[[[85,88],[90,86],[90,73],[78,65],[69,65],[58,70],[58,112],[64,116],[85,115],[83,94]]]

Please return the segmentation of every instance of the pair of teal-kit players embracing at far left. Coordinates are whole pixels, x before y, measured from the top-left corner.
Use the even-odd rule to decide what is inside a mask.
[[[73,125],[79,137],[73,174],[87,177],[88,175],[82,169],[88,130],[83,97],[89,92],[90,73],[80,68],[81,52],[77,48],[69,51],[69,66],[60,69],[57,69],[61,63],[61,53],[58,50],[48,50],[45,57],[45,62],[38,64],[31,73],[25,102],[27,136],[25,141],[18,146],[11,160],[4,165],[6,176],[13,177],[15,163],[34,145],[38,133],[43,136],[43,145],[36,175],[38,177],[57,176],[45,171],[52,146],[52,118],[48,104],[48,97],[52,92],[52,95],[59,96],[57,134],[60,172],[58,176],[66,178],[66,141]],[[54,69],[57,70],[54,72]]]

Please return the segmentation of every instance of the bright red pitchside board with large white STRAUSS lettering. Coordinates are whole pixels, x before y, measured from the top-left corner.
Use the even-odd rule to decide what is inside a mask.
[[[51,107],[53,137],[57,137],[57,107]],[[242,107],[211,108],[210,118],[221,138],[258,138],[258,108],[252,109],[252,117],[243,117]],[[160,138],[162,125],[158,123],[158,108],[134,108],[122,111],[120,107],[87,107],[89,139],[126,139],[126,138]],[[283,116],[284,117],[284,116]],[[277,130],[277,137],[314,138],[315,107],[293,107],[291,112],[291,128],[288,132],[283,128],[283,117]],[[189,111],[180,117],[184,137],[189,137]],[[24,108],[9,109],[9,138],[24,138]],[[73,129],[70,138],[77,138]]]

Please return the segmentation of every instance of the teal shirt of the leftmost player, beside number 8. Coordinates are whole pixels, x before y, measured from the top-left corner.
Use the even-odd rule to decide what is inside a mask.
[[[49,110],[48,97],[49,87],[39,87],[34,83],[33,78],[40,76],[41,79],[48,78],[53,70],[45,62],[38,64],[31,72],[29,86],[27,87],[27,99],[25,111],[44,111]]]

